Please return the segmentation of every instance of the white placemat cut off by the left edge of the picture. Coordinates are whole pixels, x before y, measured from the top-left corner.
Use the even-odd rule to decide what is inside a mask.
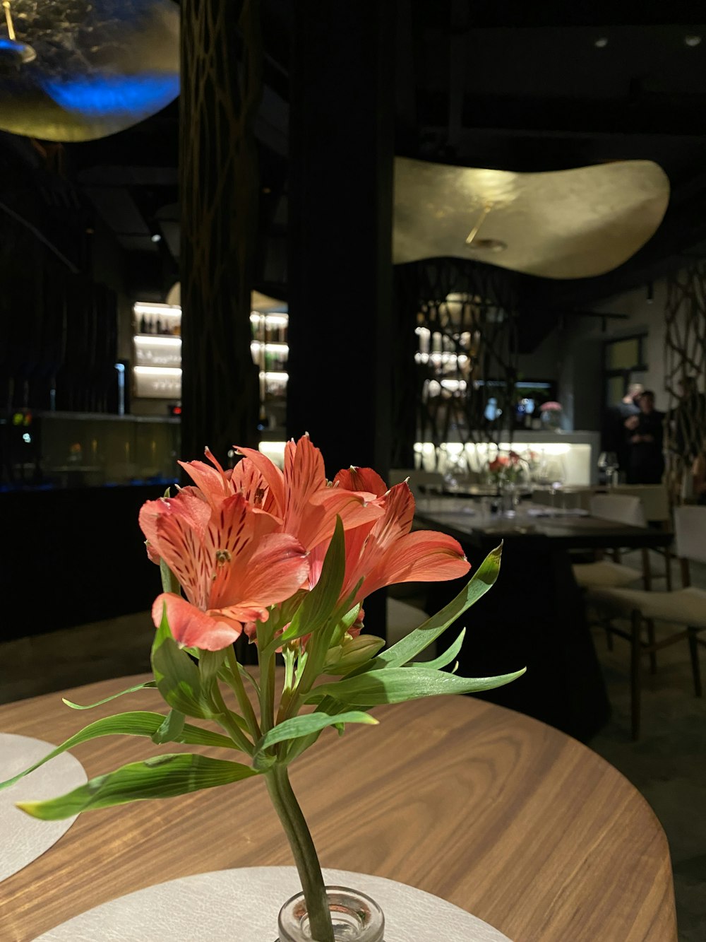
[[[0,782],[12,778],[53,749],[56,746],[51,742],[0,733]],[[56,798],[84,785],[87,780],[78,759],[62,753],[0,791],[0,880],[17,873],[48,851],[76,820],[75,816],[61,821],[30,818],[15,807],[15,802]]]

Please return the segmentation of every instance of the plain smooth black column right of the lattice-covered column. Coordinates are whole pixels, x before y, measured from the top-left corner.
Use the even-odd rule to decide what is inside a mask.
[[[293,4],[287,431],[329,475],[389,470],[394,6]]]

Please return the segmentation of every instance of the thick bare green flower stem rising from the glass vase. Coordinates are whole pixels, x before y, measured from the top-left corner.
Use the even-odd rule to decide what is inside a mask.
[[[334,942],[321,866],[313,846],[312,835],[289,782],[287,770],[283,766],[273,766],[265,773],[265,781],[297,864],[312,938],[316,939],[316,942]]]

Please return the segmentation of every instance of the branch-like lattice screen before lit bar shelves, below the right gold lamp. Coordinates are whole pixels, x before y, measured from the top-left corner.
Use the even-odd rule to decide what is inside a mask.
[[[511,442],[518,365],[513,276],[457,259],[400,266],[396,275],[404,336],[398,359],[413,364],[409,371],[403,366],[407,382],[395,382],[397,437],[404,432],[408,442],[413,434],[432,443],[437,465],[444,442],[470,454],[468,445]]]

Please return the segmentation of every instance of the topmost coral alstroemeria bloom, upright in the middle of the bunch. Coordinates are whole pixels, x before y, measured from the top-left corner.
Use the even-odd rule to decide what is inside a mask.
[[[377,520],[382,513],[375,494],[329,485],[323,456],[308,435],[296,443],[287,442],[283,473],[255,448],[237,450],[245,457],[235,466],[233,475],[241,465],[246,465],[242,474],[252,473],[249,463],[259,471],[270,501],[267,510],[281,518],[282,532],[296,536],[305,549],[330,540],[336,516],[348,529]]]

